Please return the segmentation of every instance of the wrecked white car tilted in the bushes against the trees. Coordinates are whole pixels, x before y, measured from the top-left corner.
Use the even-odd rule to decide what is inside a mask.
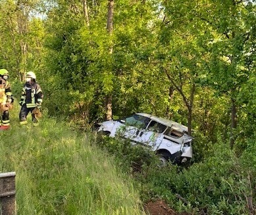
[[[150,147],[161,161],[186,163],[192,158],[192,136],[188,127],[155,117],[147,113],[136,113],[121,120],[110,120],[99,124],[97,132],[110,137],[120,136],[132,144]]]

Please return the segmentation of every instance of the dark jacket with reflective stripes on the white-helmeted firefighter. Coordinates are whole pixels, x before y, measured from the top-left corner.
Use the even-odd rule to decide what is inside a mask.
[[[26,107],[41,107],[43,102],[43,92],[38,83],[26,82],[22,88],[22,95],[20,97],[20,106],[26,104]]]

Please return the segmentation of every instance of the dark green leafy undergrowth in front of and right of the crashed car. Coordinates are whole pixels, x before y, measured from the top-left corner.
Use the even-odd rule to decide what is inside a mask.
[[[172,165],[159,168],[157,157],[145,147],[103,138],[101,144],[115,155],[116,162],[136,180],[143,202],[163,199],[178,212],[191,214],[255,213],[255,159],[237,157],[226,144],[212,146],[213,153],[188,168]],[[137,163],[139,166],[135,166]]]

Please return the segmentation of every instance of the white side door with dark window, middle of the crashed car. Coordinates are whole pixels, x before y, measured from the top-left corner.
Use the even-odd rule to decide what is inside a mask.
[[[151,147],[153,150],[157,149],[163,140],[163,132],[166,126],[151,120],[147,128],[141,129],[138,132],[135,140],[143,146]]]

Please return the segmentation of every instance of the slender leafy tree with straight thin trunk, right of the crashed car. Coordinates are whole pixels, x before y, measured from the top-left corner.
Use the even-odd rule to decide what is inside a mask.
[[[230,147],[234,147],[237,127],[237,96],[249,75],[245,67],[245,54],[251,27],[246,26],[249,15],[248,1],[218,1],[209,8],[215,16],[203,14],[205,24],[211,26],[215,37],[206,45],[209,50],[207,76],[212,87],[230,98]]]

